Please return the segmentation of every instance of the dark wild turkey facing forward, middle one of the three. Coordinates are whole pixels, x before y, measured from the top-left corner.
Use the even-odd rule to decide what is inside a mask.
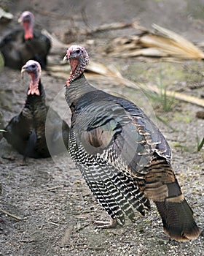
[[[30,60],[21,69],[31,75],[26,104],[19,115],[13,117],[5,128],[4,138],[26,157],[50,157],[66,149],[68,124],[58,113],[45,105],[44,89],[40,80],[39,62]],[[47,113],[49,111],[49,116]],[[46,129],[46,132],[45,132]],[[48,150],[49,143],[51,150]],[[64,144],[66,147],[64,146]]]

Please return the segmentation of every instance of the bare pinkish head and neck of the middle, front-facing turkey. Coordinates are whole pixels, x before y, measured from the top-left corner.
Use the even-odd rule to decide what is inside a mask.
[[[41,66],[39,62],[37,61],[27,61],[26,64],[22,67],[21,69],[21,75],[23,78],[23,73],[27,72],[31,76],[31,83],[30,83],[30,88],[28,90],[28,95],[30,94],[36,94],[40,95],[39,93],[39,79],[41,75]]]

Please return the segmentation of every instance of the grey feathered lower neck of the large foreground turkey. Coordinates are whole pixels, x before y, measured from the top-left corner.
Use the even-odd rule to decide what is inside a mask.
[[[75,107],[82,96],[93,91],[98,91],[98,89],[95,89],[95,87],[87,82],[84,74],[79,75],[79,78],[76,78],[76,80],[72,81],[69,86],[66,86],[65,97],[69,108]]]

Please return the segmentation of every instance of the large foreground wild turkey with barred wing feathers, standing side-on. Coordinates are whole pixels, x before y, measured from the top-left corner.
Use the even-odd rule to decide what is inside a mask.
[[[91,86],[83,72],[89,56],[72,45],[66,51],[71,73],[66,101],[71,109],[68,151],[111,222],[133,222],[136,208],[144,215],[153,200],[165,233],[177,241],[195,239],[200,230],[170,165],[170,147],[146,114],[127,99]]]

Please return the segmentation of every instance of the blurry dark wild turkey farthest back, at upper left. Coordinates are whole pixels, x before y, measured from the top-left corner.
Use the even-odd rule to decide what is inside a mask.
[[[51,48],[50,39],[41,32],[34,31],[34,15],[31,12],[23,12],[19,21],[24,30],[12,31],[0,43],[5,66],[21,69],[26,61],[34,59],[44,69]]]

